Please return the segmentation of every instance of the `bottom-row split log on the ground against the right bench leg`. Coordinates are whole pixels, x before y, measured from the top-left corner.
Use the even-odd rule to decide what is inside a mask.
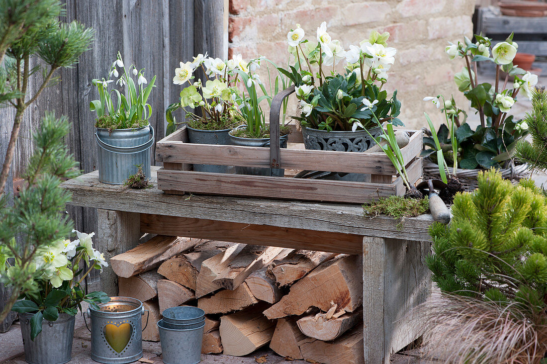
[[[298,343],[306,361],[324,364],[362,364],[365,362],[363,325],[355,326],[345,335],[331,342],[305,338]]]

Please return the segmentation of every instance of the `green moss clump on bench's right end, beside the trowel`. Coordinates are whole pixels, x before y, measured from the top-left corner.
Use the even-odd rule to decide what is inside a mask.
[[[363,209],[367,216],[388,215],[398,218],[400,222],[397,224],[397,228],[400,230],[403,228],[405,217],[422,215],[429,210],[429,199],[405,199],[401,196],[381,197],[376,202],[364,204]]]

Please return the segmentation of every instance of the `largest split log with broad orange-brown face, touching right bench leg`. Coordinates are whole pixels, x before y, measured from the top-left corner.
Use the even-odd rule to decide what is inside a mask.
[[[310,307],[328,311],[330,302],[353,312],[363,302],[362,257],[340,255],[312,270],[290,287],[280,302],[264,311],[269,319],[301,315]]]

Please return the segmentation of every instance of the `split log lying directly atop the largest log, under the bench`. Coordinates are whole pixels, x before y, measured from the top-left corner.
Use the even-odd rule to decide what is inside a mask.
[[[282,262],[276,264],[273,273],[278,284],[281,286],[290,285],[336,255],[336,253],[312,250],[295,250]]]

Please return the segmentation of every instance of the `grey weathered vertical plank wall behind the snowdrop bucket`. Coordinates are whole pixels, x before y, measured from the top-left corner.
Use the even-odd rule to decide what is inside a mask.
[[[98,94],[91,80],[108,76],[118,50],[126,66],[135,63],[146,68],[148,80],[156,75],[156,88],[148,101],[152,106],[150,124],[156,131],[156,141],[165,135],[165,109],[178,100],[182,89],[172,83],[179,62],[191,61],[193,55],[205,51],[213,57],[228,54],[226,0],[65,0],[65,3],[66,20],[78,20],[93,27],[95,43],[80,57],[76,67],[57,74],[61,77],[59,84],[46,89],[36,104],[27,109],[14,158],[15,178],[25,170],[32,153],[32,131],[48,110],[65,114],[72,122],[66,142],[83,172],[96,169],[95,115],[89,111],[89,102],[97,99]],[[40,84],[40,79],[34,79],[30,93]],[[0,109],[0,118],[13,119],[10,109]],[[7,124],[0,123],[0,162],[11,131]],[[155,164],[154,150],[151,153]],[[8,182],[7,191],[11,190]],[[68,207],[68,212],[77,229],[97,230],[95,209]],[[0,288],[0,307],[2,292]]]

